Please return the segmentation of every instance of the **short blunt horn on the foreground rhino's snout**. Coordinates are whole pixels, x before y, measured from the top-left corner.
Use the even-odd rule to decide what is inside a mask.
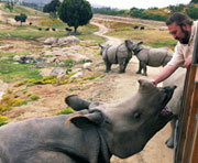
[[[141,93],[151,93],[152,89],[155,89],[156,87],[148,82],[147,79],[140,78],[139,80],[140,87],[139,91]]]

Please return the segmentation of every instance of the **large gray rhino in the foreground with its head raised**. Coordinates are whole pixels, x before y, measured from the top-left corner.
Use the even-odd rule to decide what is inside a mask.
[[[139,83],[139,91],[118,104],[74,95],[65,101],[75,113],[0,127],[0,163],[110,163],[112,154],[124,159],[140,152],[173,118],[161,111],[175,87]]]

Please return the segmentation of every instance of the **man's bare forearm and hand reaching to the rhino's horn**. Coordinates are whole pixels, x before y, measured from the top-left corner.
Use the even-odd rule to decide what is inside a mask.
[[[156,86],[158,83],[168,78],[177,68],[177,66],[166,65],[152,83]]]

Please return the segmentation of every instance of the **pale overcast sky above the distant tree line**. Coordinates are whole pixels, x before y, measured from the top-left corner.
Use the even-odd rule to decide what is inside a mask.
[[[152,7],[164,8],[176,4],[188,4],[191,0],[87,0],[90,4],[99,4],[102,7],[131,9],[148,9]]]

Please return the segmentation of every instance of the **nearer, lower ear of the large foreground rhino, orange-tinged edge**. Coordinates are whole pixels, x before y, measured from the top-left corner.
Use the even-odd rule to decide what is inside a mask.
[[[76,115],[67,120],[67,122],[72,122],[78,128],[86,128],[90,124],[100,124],[102,121],[103,116],[99,111],[87,115]]]

